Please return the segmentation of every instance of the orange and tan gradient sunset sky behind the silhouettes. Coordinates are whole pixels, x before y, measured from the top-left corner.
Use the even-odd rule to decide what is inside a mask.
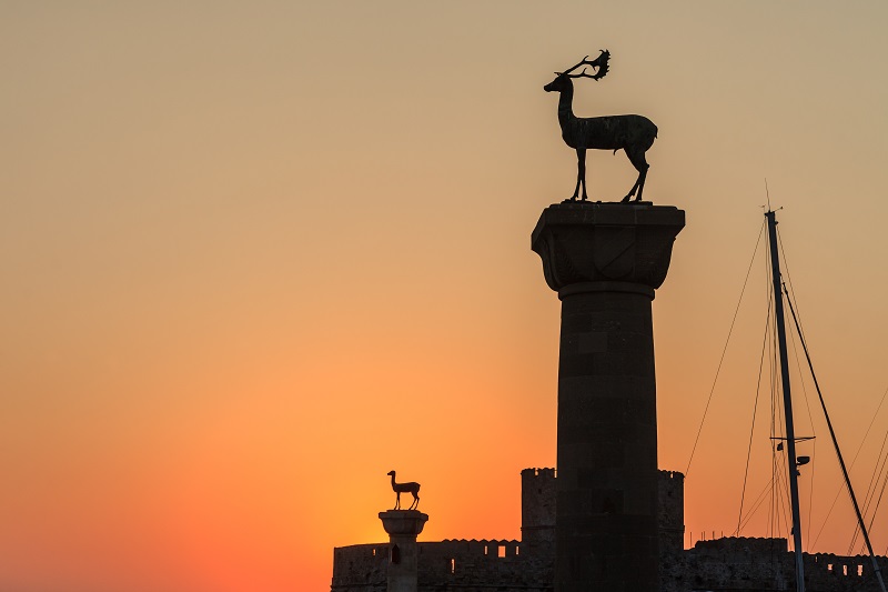
[[[687,212],[654,302],[660,466],[688,464],[766,178],[852,455],[888,387],[886,23],[875,0],[0,2],[0,590],[325,590],[333,546],[385,540],[392,469],[423,483],[422,540],[519,538],[519,471],[555,463],[529,233],[575,174],[543,86],[602,48],[575,111],[652,119],[645,198]],[[634,178],[591,152],[593,199]],[[736,528],[764,279],[693,539]],[[816,532],[838,481],[806,413]],[[851,530],[841,501],[814,549]]]

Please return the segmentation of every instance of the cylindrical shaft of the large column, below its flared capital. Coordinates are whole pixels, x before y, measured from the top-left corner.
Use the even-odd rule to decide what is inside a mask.
[[[559,592],[658,588],[653,290],[636,288],[562,300]]]

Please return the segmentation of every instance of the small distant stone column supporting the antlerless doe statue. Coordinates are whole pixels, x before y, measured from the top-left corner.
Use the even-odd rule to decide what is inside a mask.
[[[418,546],[416,536],[423,531],[428,514],[418,510],[380,512],[389,533],[389,592],[416,592]]]

